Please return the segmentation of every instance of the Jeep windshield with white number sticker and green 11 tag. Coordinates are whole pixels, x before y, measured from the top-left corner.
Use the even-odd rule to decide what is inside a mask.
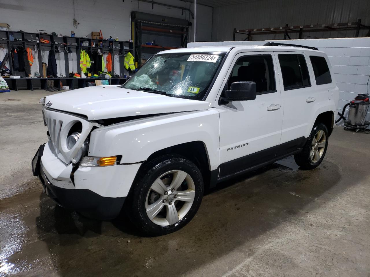
[[[202,99],[225,53],[171,53],[155,55],[124,85],[190,99]]]

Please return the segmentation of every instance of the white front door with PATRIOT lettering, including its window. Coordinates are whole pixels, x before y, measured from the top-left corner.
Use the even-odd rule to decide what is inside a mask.
[[[284,109],[276,68],[273,52],[240,53],[234,58],[219,96],[224,97],[231,83],[238,81],[256,82],[257,95],[255,100],[216,102],[220,113],[220,177],[275,158]]]

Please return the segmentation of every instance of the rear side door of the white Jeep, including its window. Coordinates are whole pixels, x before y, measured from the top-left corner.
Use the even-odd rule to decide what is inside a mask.
[[[315,114],[317,92],[312,87],[312,72],[303,52],[275,52],[279,64],[280,89],[284,99],[284,117],[280,154],[303,146]],[[279,154],[278,154],[279,155]]]

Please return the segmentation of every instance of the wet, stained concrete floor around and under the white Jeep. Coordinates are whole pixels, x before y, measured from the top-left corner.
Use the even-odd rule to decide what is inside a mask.
[[[32,177],[46,94],[0,94],[0,276],[370,276],[369,134],[337,127],[319,168],[287,158],[220,184],[179,232],[139,237],[123,216],[55,206]]]

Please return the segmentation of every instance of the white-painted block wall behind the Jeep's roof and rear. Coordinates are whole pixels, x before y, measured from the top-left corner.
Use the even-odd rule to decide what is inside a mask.
[[[263,45],[269,41],[224,41],[196,42],[188,47],[212,45]],[[332,64],[337,86],[339,88],[338,111],[342,113],[343,106],[353,100],[358,93],[370,92],[370,83],[366,87],[370,75],[370,38],[327,38],[315,40],[271,40],[317,47],[329,57]],[[348,107],[344,116],[347,117]],[[370,110],[367,114],[370,121]]]

